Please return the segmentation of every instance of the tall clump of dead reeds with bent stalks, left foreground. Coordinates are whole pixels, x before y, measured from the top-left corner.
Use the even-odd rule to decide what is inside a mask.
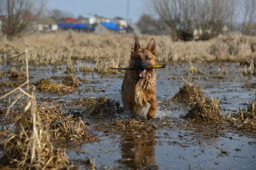
[[[20,93],[15,97],[11,104],[16,103],[20,97],[26,96],[26,105],[22,108],[20,116],[17,118],[14,134],[10,134],[4,144],[3,157],[1,157],[1,166],[22,169],[45,169],[45,168],[63,168],[70,166],[68,156],[65,150],[54,148],[49,133],[42,125],[42,120],[36,111],[35,87],[29,85],[28,73],[28,48],[26,54],[26,82],[16,89],[8,92],[3,99],[17,90]],[[26,89],[22,89],[26,85]],[[6,115],[8,114],[6,111]]]

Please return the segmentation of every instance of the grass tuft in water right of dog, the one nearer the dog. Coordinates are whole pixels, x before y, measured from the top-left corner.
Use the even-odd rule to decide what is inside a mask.
[[[179,92],[172,97],[171,101],[179,101],[192,104],[197,102],[197,99],[204,98],[204,96],[204,91],[199,85],[196,84],[195,81],[184,80],[184,85],[180,87]]]

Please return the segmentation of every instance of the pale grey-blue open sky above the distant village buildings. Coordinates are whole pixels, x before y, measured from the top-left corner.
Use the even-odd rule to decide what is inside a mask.
[[[129,1],[129,20],[137,22],[145,13],[143,0],[48,0],[47,9],[69,11],[77,17],[85,13],[97,14],[107,18],[116,16],[127,19],[127,1]]]

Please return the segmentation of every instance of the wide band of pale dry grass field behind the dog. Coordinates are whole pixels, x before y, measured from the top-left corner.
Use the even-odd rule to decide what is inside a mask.
[[[157,62],[230,61],[250,64],[255,57],[256,39],[248,36],[220,36],[209,41],[173,42],[170,36],[153,36],[157,42]],[[33,64],[68,63],[86,59],[97,63],[85,70],[99,73],[119,73],[106,67],[127,67],[133,35],[54,32],[31,34],[15,41],[0,39],[0,52],[15,55],[29,45]],[[139,35],[141,47],[148,45],[152,36]],[[83,67],[83,66],[81,66]],[[81,69],[82,70],[82,69]]]

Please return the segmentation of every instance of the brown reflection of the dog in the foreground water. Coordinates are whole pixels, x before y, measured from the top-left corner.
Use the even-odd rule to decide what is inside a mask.
[[[132,169],[157,169],[154,131],[127,132],[121,138],[122,163]]]

